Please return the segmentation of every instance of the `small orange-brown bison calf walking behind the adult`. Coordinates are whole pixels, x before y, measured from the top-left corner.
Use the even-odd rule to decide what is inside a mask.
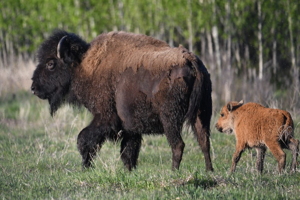
[[[289,112],[279,109],[265,108],[258,103],[239,103],[229,101],[220,113],[216,128],[227,134],[235,133],[236,150],[232,157],[230,172],[246,148],[256,148],[256,170],[262,173],[263,161],[267,147],[278,162],[279,173],[285,167],[286,154],[282,148],[292,151],[292,166],[296,169],[299,152],[299,140],[293,138],[293,120]]]

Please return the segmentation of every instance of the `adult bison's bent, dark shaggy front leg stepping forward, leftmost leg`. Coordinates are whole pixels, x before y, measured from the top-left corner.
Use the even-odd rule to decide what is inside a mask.
[[[95,127],[88,126],[79,133],[77,148],[82,156],[82,169],[91,166],[93,157],[104,142],[105,138],[101,136],[99,130]]]

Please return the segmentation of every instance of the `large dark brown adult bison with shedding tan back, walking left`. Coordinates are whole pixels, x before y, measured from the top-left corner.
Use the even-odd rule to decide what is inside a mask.
[[[78,135],[82,165],[106,140],[122,130],[121,159],[136,168],[143,135],[165,134],[172,148],[172,169],[179,169],[184,121],[193,129],[210,159],[211,80],[202,61],[182,46],[142,34],[109,32],[86,43],[79,36],[57,30],[37,52],[32,93],[48,99],[50,114],[64,103],[85,106],[91,124]]]

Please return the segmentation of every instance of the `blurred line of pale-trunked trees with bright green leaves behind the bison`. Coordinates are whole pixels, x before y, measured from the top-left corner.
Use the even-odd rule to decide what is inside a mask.
[[[195,52],[225,88],[224,101],[232,98],[232,85],[249,80],[299,91],[299,7],[299,0],[5,0],[1,65],[15,56],[34,58],[55,28],[87,41],[124,30]]]

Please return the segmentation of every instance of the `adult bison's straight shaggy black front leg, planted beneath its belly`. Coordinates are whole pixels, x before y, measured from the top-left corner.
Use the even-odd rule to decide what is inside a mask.
[[[137,159],[139,157],[141,144],[142,136],[140,135],[125,135],[122,139],[120,151],[121,159],[128,171],[137,168]]]

